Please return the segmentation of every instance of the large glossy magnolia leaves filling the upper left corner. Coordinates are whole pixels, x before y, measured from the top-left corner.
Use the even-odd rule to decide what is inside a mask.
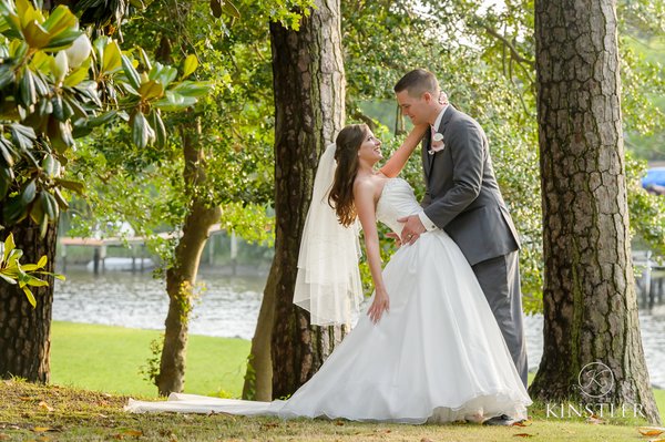
[[[0,206],[2,226],[30,217],[42,235],[66,209],[65,178],[75,138],[125,120],[140,147],[166,137],[162,111],[178,111],[208,90],[175,68],[123,54],[117,42],[90,42],[64,6],[42,13],[28,0],[0,3]],[[190,72],[192,73],[192,63]]]

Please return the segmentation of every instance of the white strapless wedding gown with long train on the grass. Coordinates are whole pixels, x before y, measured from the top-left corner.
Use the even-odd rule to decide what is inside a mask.
[[[401,233],[398,218],[422,210],[409,184],[389,179],[377,218]],[[171,394],[130,400],[132,412],[224,412],[324,417],[403,423],[470,415],[526,418],[531,400],[481,288],[443,230],[401,247],[383,269],[390,310],[357,326],[320,370],[286,401],[253,402]]]

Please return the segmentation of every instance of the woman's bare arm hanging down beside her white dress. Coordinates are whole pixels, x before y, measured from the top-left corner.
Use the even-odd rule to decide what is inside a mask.
[[[375,186],[369,182],[357,182],[354,185],[354,204],[356,213],[360,218],[362,232],[365,234],[365,248],[367,249],[367,261],[371,273],[371,279],[375,285],[375,299],[367,310],[367,315],[372,322],[381,319],[383,311],[388,311],[390,299],[383,285],[381,275],[381,253],[379,248],[379,234],[377,232],[377,220],[375,216]]]

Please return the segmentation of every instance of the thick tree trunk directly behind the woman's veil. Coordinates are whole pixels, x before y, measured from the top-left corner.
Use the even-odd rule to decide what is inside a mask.
[[[345,76],[339,0],[317,0],[298,31],[270,23],[275,90],[275,259],[264,294],[249,362],[257,398],[279,398],[306,382],[341,340],[340,328],[309,325],[309,315],[293,305],[298,251],[311,198],[318,158],[334,141],[345,115]],[[265,310],[265,311],[264,311]],[[272,337],[258,336],[268,330]],[[268,342],[270,345],[268,345]],[[260,345],[260,347],[259,347]],[[269,374],[259,372],[272,357]],[[259,383],[260,382],[260,383]]]

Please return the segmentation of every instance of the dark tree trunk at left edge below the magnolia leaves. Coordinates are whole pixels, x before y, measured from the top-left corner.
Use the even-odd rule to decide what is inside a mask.
[[[17,247],[23,250],[21,263],[38,263],[47,256],[45,270],[53,271],[58,225],[50,224],[47,236],[40,237],[40,227],[25,218],[11,228]],[[2,240],[9,233],[2,235]],[[31,382],[50,380],[51,311],[53,277],[43,277],[48,287],[31,287],[37,307],[32,308],[18,285],[0,281],[0,377],[12,376]]]

